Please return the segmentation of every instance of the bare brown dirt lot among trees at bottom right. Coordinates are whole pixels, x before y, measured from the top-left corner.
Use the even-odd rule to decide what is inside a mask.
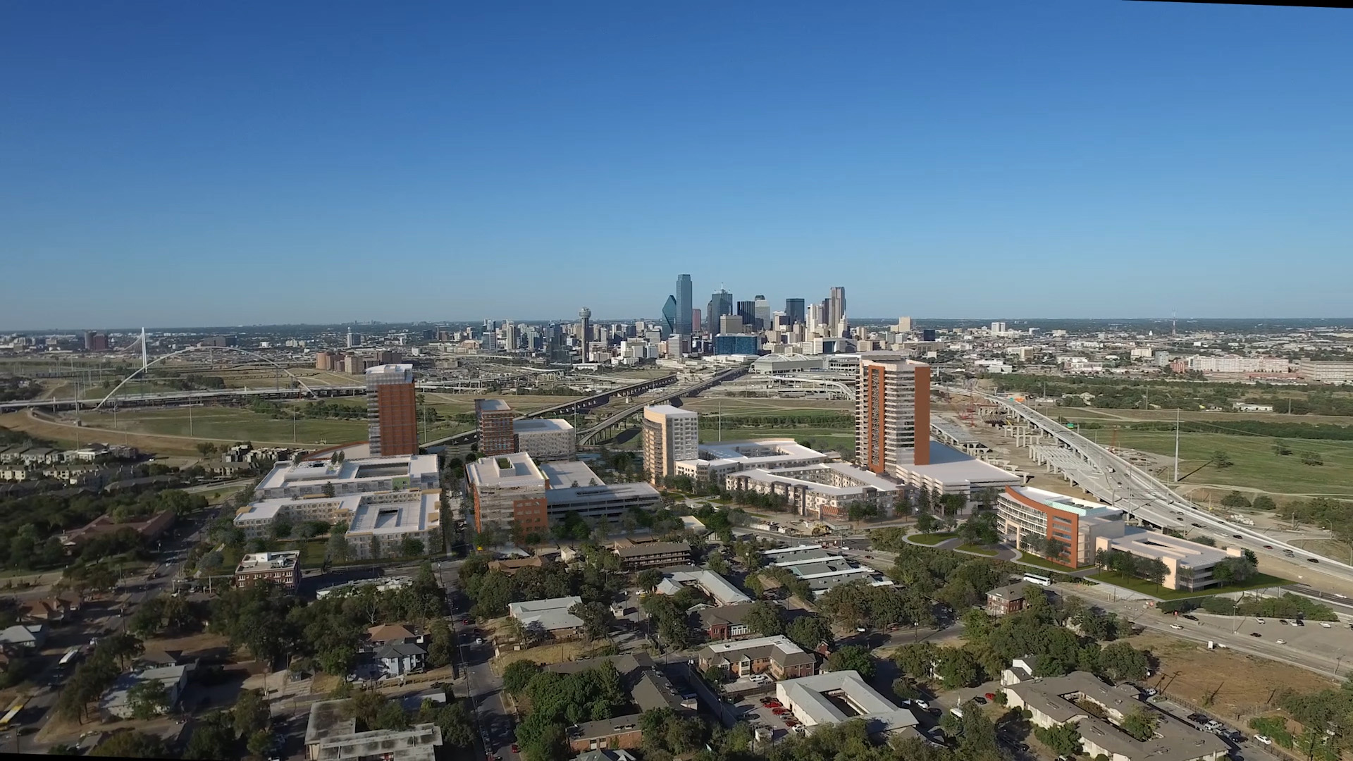
[[[1208,650],[1203,645],[1161,634],[1142,634],[1128,639],[1160,658],[1158,672],[1147,680],[1150,687],[1207,707],[1227,719],[1241,719],[1272,710],[1272,701],[1284,689],[1315,692],[1337,687],[1306,669],[1276,661],[1242,655],[1231,650]]]

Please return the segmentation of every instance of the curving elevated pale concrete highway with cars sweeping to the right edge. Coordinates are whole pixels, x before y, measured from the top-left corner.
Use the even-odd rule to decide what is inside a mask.
[[[1349,563],[1287,544],[1254,528],[1219,519],[1207,510],[1199,509],[1197,505],[1180,497],[1150,473],[1024,404],[955,386],[939,386],[939,389],[950,394],[981,397],[1009,414],[1023,418],[1045,435],[1051,436],[1059,447],[1070,450],[1084,459],[1089,466],[1088,470],[1095,475],[1078,481],[1077,485],[1100,500],[1122,508],[1132,517],[1158,527],[1181,529],[1207,528],[1216,531],[1220,535],[1219,539],[1226,539],[1230,543],[1253,550],[1256,554],[1266,554],[1277,559],[1281,559],[1284,550],[1288,550],[1292,552],[1292,557],[1300,561],[1315,559],[1322,571],[1353,580],[1353,566]]]

